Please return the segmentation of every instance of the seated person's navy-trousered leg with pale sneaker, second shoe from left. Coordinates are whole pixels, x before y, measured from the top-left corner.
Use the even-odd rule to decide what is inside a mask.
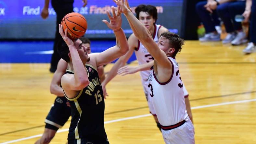
[[[234,29],[233,23],[231,21],[232,17],[229,14],[229,9],[228,9],[228,6],[231,3],[233,3],[233,2],[223,3],[223,4],[219,5],[216,9],[219,17],[221,18],[221,20],[224,23],[226,32],[228,33],[226,38],[222,41],[222,43],[230,43],[236,37],[235,29]]]

